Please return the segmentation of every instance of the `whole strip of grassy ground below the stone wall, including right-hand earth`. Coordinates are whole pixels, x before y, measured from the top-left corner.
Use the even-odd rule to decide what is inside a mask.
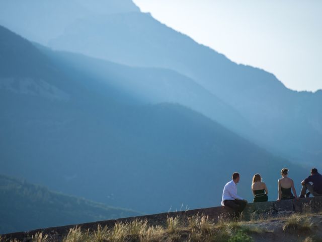
[[[284,241],[320,242],[316,233],[316,226],[312,218],[319,214],[292,214],[287,217],[269,218],[256,221],[228,221],[214,222],[207,216],[192,216],[187,218],[168,217],[164,226],[149,225],[147,220],[133,220],[128,223],[116,223],[114,227],[98,225],[95,231],[84,231],[81,227],[71,228],[62,238],[63,242],[153,242],[153,241],[206,241],[206,242],[251,242],[260,238],[266,240],[273,233],[283,238],[292,238]],[[276,221],[278,223],[276,224]],[[274,225],[275,223],[275,225]],[[272,230],[263,224],[272,224]],[[276,234],[275,234],[276,235]],[[296,236],[295,236],[296,235]],[[293,240],[295,236],[295,240]],[[272,237],[272,236],[271,236]],[[34,242],[49,242],[52,238],[47,234],[38,233],[32,237]],[[60,239],[59,239],[60,240]],[[18,242],[0,237],[0,242]]]

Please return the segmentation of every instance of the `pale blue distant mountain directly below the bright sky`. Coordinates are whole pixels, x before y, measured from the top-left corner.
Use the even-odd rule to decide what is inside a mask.
[[[233,63],[140,12],[128,0],[95,1],[93,6],[85,0],[73,0],[67,5],[57,2],[54,7],[48,0],[41,4],[39,0],[23,2],[17,5],[3,1],[0,24],[54,49],[132,67],[176,71],[219,100],[224,109],[229,107],[229,114],[211,108],[218,102],[209,98],[205,100],[208,105],[196,98],[193,105],[188,105],[194,110],[293,162],[316,165],[322,158],[321,90],[311,93],[287,89],[273,74]],[[33,11],[39,14],[28,14]],[[45,21],[39,22],[42,15],[46,15]],[[54,16],[59,16],[59,23]],[[57,26],[59,31],[53,31]],[[176,101],[187,106],[185,100]],[[235,115],[230,115],[232,112]]]

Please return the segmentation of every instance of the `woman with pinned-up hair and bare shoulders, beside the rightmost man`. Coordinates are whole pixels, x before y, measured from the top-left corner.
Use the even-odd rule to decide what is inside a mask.
[[[296,191],[294,188],[294,182],[291,178],[287,177],[288,169],[283,168],[281,170],[282,178],[278,179],[278,199],[280,200],[287,200],[287,199],[294,199],[297,198]],[[292,194],[292,191],[294,195]]]

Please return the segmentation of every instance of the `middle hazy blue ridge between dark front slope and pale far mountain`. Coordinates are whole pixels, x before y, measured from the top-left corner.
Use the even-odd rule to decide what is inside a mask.
[[[252,137],[254,128],[243,116],[192,79],[175,71],[128,67],[81,54],[53,52],[42,46],[39,48],[66,73],[84,73],[82,76],[101,79],[147,103],[172,102],[185,105],[233,131],[243,130],[245,137]]]

